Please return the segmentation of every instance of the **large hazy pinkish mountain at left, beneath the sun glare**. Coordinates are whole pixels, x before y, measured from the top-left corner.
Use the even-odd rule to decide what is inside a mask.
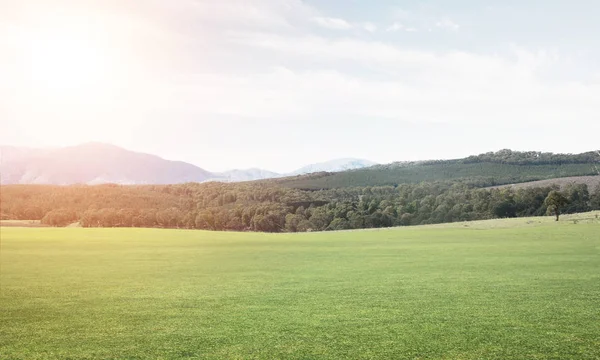
[[[14,153],[0,164],[2,184],[176,184],[212,176],[192,164],[101,143]]]

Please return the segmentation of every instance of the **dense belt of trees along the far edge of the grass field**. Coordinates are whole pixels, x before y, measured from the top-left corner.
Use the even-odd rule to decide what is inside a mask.
[[[156,186],[3,186],[3,219],[52,226],[300,232],[538,216],[558,187],[482,189],[429,182],[307,191],[272,183]],[[600,209],[600,187],[561,190],[562,213]],[[551,211],[552,212],[552,211]]]

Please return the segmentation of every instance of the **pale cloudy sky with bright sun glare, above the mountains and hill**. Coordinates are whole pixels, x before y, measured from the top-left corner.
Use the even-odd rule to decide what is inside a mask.
[[[0,144],[210,171],[600,148],[600,2],[0,0]]]

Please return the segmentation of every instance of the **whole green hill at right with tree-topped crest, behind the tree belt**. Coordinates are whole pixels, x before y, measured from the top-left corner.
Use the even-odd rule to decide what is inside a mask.
[[[340,173],[317,173],[276,180],[300,189],[415,184],[461,180],[494,186],[567,176],[600,174],[600,152],[552,154],[501,150],[455,160],[396,162]]]

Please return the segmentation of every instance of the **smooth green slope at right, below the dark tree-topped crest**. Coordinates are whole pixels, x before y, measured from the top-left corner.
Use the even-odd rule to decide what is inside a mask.
[[[498,184],[551,179],[565,176],[595,175],[594,164],[513,165],[501,163],[464,164],[447,161],[432,165],[374,166],[365,169],[275,180],[301,189],[327,189],[348,186],[381,186],[462,178],[493,178]]]

